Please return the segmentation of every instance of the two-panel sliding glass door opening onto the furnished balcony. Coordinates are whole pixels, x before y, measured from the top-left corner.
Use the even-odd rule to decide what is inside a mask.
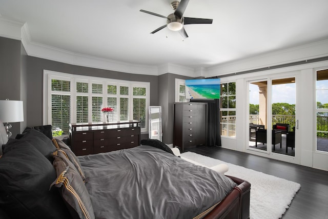
[[[295,156],[295,77],[251,81],[249,148]]]

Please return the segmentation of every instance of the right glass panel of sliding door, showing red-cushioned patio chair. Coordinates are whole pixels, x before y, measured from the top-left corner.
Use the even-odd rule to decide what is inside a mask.
[[[295,156],[295,77],[272,80],[272,145],[273,153]]]

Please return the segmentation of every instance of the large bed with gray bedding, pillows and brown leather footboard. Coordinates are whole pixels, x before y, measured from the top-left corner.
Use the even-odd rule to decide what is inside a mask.
[[[37,130],[16,138],[2,147],[0,218],[249,218],[247,181],[160,142],[75,156]]]

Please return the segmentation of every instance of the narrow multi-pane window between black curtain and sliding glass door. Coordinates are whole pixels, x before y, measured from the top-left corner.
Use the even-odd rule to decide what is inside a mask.
[[[221,84],[221,136],[236,137],[236,83]]]

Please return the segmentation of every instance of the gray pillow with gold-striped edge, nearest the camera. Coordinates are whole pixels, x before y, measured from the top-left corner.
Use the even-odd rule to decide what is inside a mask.
[[[75,166],[60,151],[54,155],[53,166],[57,179],[51,186],[59,188],[72,217],[95,218],[88,190]]]

